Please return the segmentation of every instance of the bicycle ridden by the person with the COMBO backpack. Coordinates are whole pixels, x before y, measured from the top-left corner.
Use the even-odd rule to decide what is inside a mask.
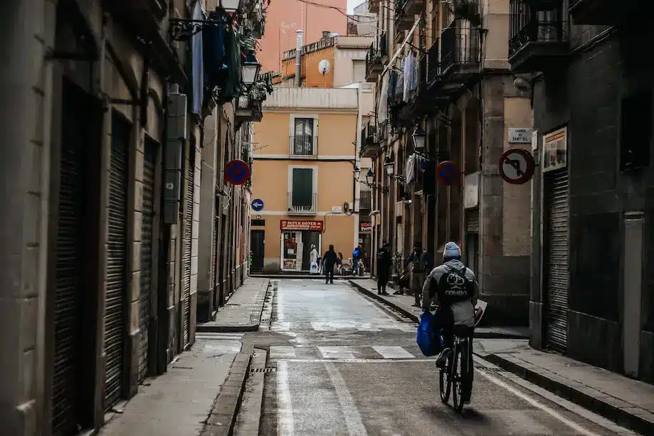
[[[473,327],[454,326],[452,351],[439,368],[441,401],[448,404],[450,392],[454,410],[461,413],[473,390]]]

